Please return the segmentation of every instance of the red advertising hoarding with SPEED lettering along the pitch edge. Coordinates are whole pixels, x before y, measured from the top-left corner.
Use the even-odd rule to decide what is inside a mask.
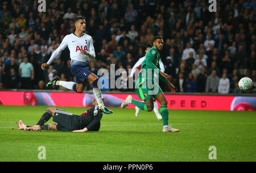
[[[128,94],[102,94],[104,104],[119,107]],[[139,100],[136,94],[131,94]],[[26,92],[0,91],[0,104],[3,105],[46,105],[61,107],[88,107],[92,104],[93,94],[76,92]],[[166,95],[168,109],[191,109],[213,111],[255,111],[256,96],[222,95]],[[160,104],[158,103],[159,107]],[[134,108],[130,104],[127,108]]]

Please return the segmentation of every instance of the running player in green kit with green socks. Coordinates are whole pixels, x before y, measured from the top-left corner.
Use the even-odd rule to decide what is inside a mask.
[[[131,95],[127,96],[126,100],[121,104],[121,108],[125,108],[130,103],[145,111],[152,111],[154,108],[153,97],[161,104],[160,114],[163,118],[163,132],[179,132],[179,129],[171,128],[168,125],[168,109],[167,99],[163,94],[158,83],[155,82],[154,73],[159,75],[159,78],[171,88],[171,92],[176,92],[174,85],[168,80],[168,75],[160,71],[159,50],[163,48],[163,39],[160,36],[154,37],[153,47],[148,50],[145,60],[142,62],[142,68],[139,71],[139,78],[136,81],[135,91],[140,99],[144,102],[134,100]]]

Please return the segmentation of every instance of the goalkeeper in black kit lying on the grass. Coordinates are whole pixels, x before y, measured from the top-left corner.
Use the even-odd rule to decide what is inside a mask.
[[[43,116],[34,126],[27,126],[19,121],[18,129],[26,131],[40,130],[58,130],[66,132],[87,132],[100,130],[100,121],[102,112],[98,109],[96,98],[93,99],[92,108],[88,109],[82,115],[73,115],[67,111],[57,108],[48,108]],[[44,125],[51,117],[55,123]]]

